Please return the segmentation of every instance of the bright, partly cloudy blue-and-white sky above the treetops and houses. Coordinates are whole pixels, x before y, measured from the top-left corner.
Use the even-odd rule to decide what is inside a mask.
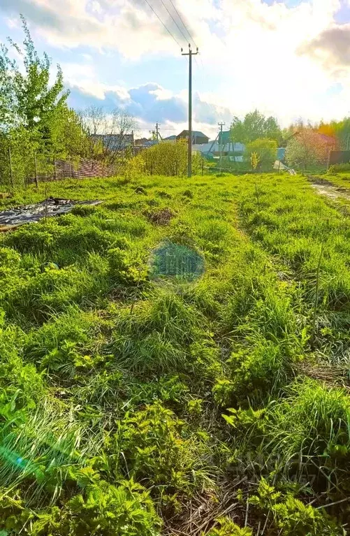
[[[188,43],[210,138],[255,108],[281,126],[350,115],[350,0],[0,0],[0,43],[22,42],[20,13],[69,105],[122,108],[140,136],[187,128]]]

